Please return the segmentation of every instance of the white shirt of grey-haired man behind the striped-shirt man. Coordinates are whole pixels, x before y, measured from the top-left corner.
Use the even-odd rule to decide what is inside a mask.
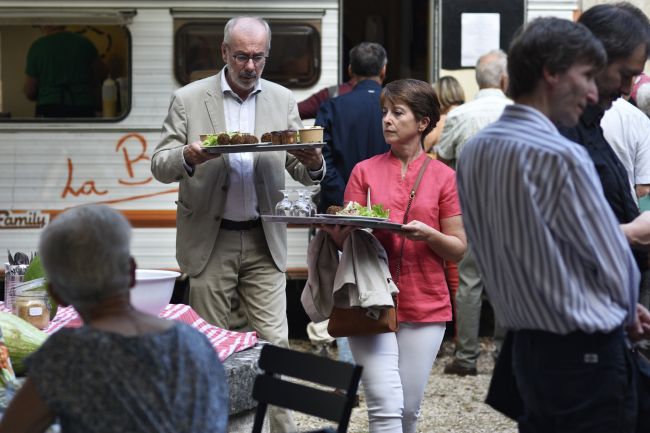
[[[474,100],[459,105],[447,114],[436,152],[456,163],[463,146],[477,132],[495,122],[503,109],[512,104],[501,89],[481,89]]]

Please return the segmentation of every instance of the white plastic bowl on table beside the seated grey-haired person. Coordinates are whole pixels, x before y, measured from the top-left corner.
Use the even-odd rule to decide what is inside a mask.
[[[157,316],[169,304],[179,275],[174,271],[136,269],[131,304],[137,310]]]

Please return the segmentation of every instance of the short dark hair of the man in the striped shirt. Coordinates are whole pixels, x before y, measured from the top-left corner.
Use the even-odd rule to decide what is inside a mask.
[[[607,61],[600,41],[582,24],[569,20],[537,18],[522,26],[508,50],[508,94],[518,98],[530,94],[544,70],[566,72],[576,64],[601,68]]]

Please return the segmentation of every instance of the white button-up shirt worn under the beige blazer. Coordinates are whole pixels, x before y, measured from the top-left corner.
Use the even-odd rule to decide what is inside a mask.
[[[226,129],[229,132],[239,131],[248,134],[255,133],[255,101],[257,94],[262,91],[258,80],[255,88],[242,101],[232,90],[226,80],[227,68],[221,74],[221,89],[223,90],[223,112],[226,118]],[[259,218],[257,194],[253,172],[253,154],[251,152],[231,153],[230,186],[226,193],[226,205],[223,218],[232,221],[248,221]]]

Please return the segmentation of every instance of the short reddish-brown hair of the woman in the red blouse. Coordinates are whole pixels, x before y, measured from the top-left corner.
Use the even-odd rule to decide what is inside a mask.
[[[381,92],[382,107],[386,102],[393,105],[398,103],[406,105],[418,121],[425,117],[429,118],[429,124],[420,136],[420,144],[424,147],[424,137],[440,120],[440,102],[433,87],[429,83],[412,78],[391,81]]]

